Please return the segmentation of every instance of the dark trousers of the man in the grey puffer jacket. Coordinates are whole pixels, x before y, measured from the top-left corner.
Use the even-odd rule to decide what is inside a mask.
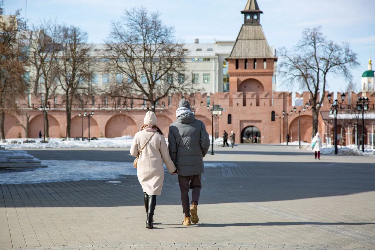
[[[190,216],[189,189],[192,189],[191,202],[198,205],[202,188],[201,175],[178,175],[178,185],[180,185],[183,213],[188,217]]]

